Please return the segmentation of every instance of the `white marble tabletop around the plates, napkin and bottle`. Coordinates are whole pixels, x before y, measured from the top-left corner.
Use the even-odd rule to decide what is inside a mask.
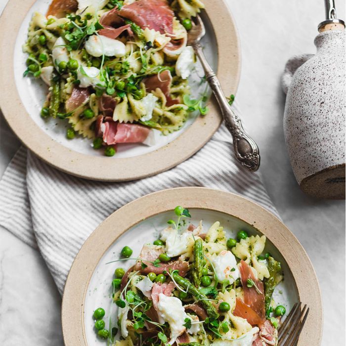
[[[0,0],[0,10],[7,0]],[[345,202],[318,201],[299,189],[285,148],[280,74],[295,54],[313,53],[319,0],[228,0],[242,45],[237,99],[261,150],[265,186],[312,260],[324,304],[323,346],[345,343]],[[345,1],[336,0],[345,19]],[[227,30],[227,28],[225,28]],[[3,87],[3,86],[1,86]],[[0,174],[19,147],[1,116]],[[62,345],[61,299],[40,254],[0,229],[0,345]]]

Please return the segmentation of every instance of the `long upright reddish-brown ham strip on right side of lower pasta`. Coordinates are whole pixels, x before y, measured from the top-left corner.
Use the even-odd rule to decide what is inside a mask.
[[[250,306],[260,317],[262,321],[265,320],[264,308],[264,288],[263,283],[256,279],[254,272],[248,263],[241,260],[239,265],[241,282],[244,288],[244,303]],[[247,280],[251,279],[255,285],[248,287]]]

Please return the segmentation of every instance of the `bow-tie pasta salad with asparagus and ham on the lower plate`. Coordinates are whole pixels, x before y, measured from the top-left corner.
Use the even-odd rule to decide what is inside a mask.
[[[93,312],[98,337],[115,346],[277,345],[277,328],[286,313],[272,299],[283,279],[280,262],[265,253],[264,235],[240,230],[226,238],[218,221],[205,232],[203,223],[180,206],[160,238],[144,244],[138,257],[125,246],[112,281],[117,325]],[[111,320],[110,320],[111,321]]]

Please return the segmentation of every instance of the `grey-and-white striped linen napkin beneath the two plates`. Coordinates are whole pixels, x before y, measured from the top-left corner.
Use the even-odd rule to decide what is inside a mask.
[[[0,225],[46,261],[62,294],[71,264],[90,233],[126,203],[162,189],[204,186],[243,195],[277,215],[259,173],[243,169],[222,125],[194,156],[155,176],[95,182],[62,173],[22,147],[0,181]]]

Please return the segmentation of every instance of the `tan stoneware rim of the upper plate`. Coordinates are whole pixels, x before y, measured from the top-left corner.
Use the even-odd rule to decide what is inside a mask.
[[[44,162],[65,173],[87,179],[134,180],[161,173],[188,159],[218,129],[221,115],[212,97],[206,117],[197,117],[169,144],[144,155],[120,159],[96,157],[73,151],[55,141],[27,114],[14,80],[13,57],[17,33],[35,1],[9,0],[0,17],[0,85],[3,87],[0,108],[17,137]],[[240,48],[234,20],[224,0],[209,0],[205,4],[216,37],[217,76],[224,93],[235,94],[240,74]],[[25,121],[23,115],[27,116]]]

